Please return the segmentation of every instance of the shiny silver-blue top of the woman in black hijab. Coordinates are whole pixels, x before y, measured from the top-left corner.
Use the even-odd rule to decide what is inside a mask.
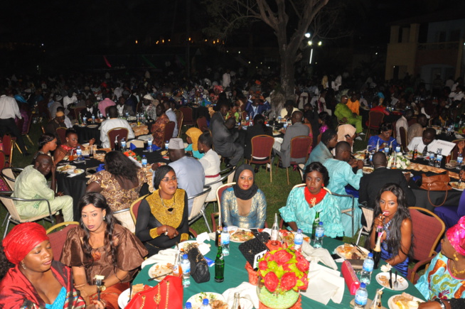
[[[249,215],[242,217],[239,215],[234,189],[226,189],[221,197],[221,218],[226,227],[233,225],[245,229],[264,227],[264,220],[267,219],[267,200],[262,190],[258,189],[252,197]]]

